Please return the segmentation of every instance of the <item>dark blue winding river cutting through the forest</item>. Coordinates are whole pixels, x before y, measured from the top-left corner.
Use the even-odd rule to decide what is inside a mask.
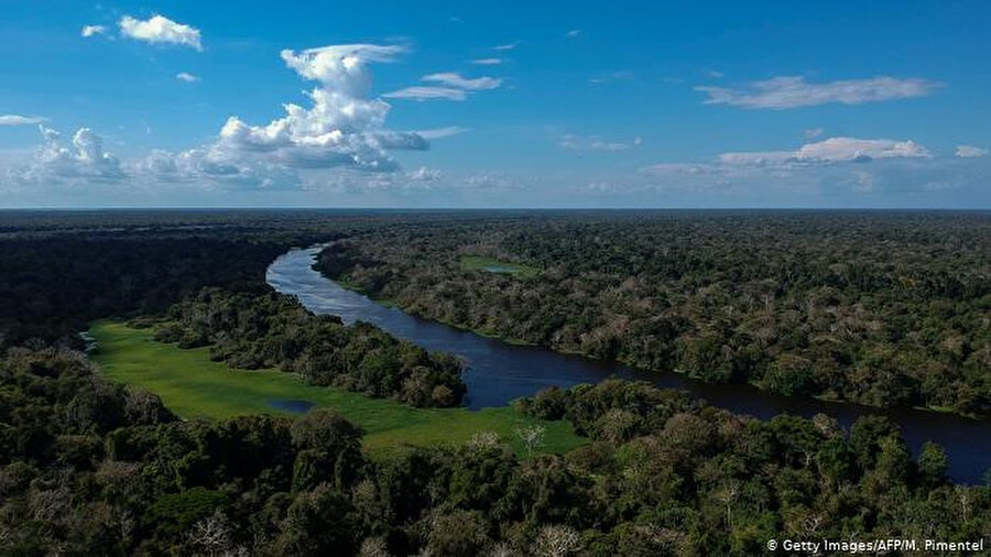
[[[688,391],[710,404],[739,414],[769,418],[776,414],[836,417],[849,427],[859,416],[883,414],[896,422],[913,451],[926,440],[941,445],[950,457],[949,474],[957,482],[979,483],[991,467],[991,421],[911,408],[881,409],[848,403],[780,396],[749,385],[694,381],[678,373],[646,372],[616,362],[590,360],[546,348],[521,347],[413,317],[344,288],[312,269],[318,248],[293,250],[269,266],[266,281],[295,295],[315,314],[338,315],[345,323],[371,323],[427,350],[457,354],[468,362],[464,380],[469,408],[502,406],[549,385],[596,383],[609,376],[650,381]]]

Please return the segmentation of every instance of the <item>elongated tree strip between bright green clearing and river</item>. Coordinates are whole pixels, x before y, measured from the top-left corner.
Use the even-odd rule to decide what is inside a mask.
[[[235,368],[280,368],[313,384],[334,385],[413,406],[457,406],[462,363],[398,340],[366,323],[316,316],[291,296],[208,288],[174,305],[156,337],[183,348],[209,346]]]

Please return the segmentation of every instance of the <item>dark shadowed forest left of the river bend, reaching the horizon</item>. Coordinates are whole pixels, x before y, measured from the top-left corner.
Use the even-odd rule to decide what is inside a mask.
[[[281,253],[367,226],[356,211],[0,211],[0,349],[81,347],[92,319],[160,314],[208,286],[266,292]]]

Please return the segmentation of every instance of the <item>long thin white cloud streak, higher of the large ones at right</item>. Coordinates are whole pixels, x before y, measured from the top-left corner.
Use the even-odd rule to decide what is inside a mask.
[[[831,102],[860,105],[925,97],[939,85],[928,79],[896,79],[886,76],[821,84],[808,83],[804,77],[775,77],[753,81],[743,88],[699,86],[695,90],[708,95],[704,101],[706,105],[784,110]]]

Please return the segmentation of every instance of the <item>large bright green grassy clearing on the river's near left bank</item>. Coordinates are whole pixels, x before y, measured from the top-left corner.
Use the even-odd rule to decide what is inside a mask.
[[[271,406],[273,400],[308,401],[333,408],[366,430],[370,450],[403,445],[427,446],[465,443],[478,432],[496,432],[524,455],[519,427],[546,427],[541,452],[567,452],[586,439],[570,425],[542,422],[509,406],[472,412],[465,408],[413,408],[395,401],[334,387],[307,385],[294,374],[277,370],[235,370],[210,361],[208,348],[181,349],[154,340],[153,329],[135,329],[121,323],[98,321],[89,330],[97,341],[90,358],[104,375],[141,386],[162,397],[184,418],[222,419],[248,414],[294,415]]]

